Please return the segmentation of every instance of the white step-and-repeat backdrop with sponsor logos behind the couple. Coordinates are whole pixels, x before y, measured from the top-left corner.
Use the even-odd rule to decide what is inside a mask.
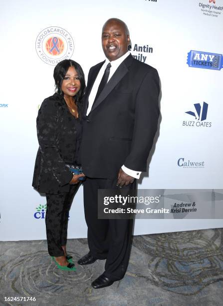
[[[101,29],[110,17],[127,23],[132,55],[156,67],[162,85],[156,145],[138,188],[223,188],[223,0],[3,1],[0,240],[45,238],[46,200],[31,186],[37,111],[54,92],[58,61],[78,61],[87,78],[104,59]],[[134,233],[222,226],[214,218],[136,219]],[[81,187],[68,237],[86,232]]]

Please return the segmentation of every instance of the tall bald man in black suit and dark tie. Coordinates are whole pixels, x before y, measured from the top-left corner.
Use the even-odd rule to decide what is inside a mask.
[[[81,144],[84,210],[89,253],[78,260],[89,264],[106,259],[105,271],[92,282],[94,288],[111,285],[127,270],[132,219],[98,219],[98,189],[136,189],[136,179],[146,171],[159,117],[159,76],[155,68],[128,51],[126,24],[108,19],[102,29],[106,59],[91,67],[85,93]]]

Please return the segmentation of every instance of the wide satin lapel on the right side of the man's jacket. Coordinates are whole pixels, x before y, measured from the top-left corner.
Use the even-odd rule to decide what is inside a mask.
[[[97,100],[94,102],[91,111],[93,111],[105,98],[106,96],[112,91],[112,89],[118,84],[118,82],[123,78],[123,76],[129,71],[128,67],[131,65],[133,60],[132,55],[130,54],[126,57],[125,60],[120,64],[117,68],[115,73],[112,75],[108,83],[105,85],[104,89],[101,91],[100,95],[98,96]],[[92,84],[93,86],[93,84]],[[92,88],[91,86],[91,88]],[[89,112],[89,114],[91,113]]]

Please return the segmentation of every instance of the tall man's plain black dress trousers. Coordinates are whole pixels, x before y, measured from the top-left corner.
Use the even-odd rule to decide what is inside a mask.
[[[133,219],[98,219],[98,189],[116,188],[120,194],[136,189],[136,180],[125,187],[117,187],[114,179],[89,178],[83,183],[84,212],[88,226],[88,246],[97,259],[106,259],[104,275],[111,280],[124,277],[128,267]]]

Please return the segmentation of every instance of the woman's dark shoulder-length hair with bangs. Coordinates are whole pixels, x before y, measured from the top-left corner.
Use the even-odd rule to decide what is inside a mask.
[[[84,72],[83,72],[81,66],[79,65],[79,63],[77,63],[76,61],[74,61],[72,59],[64,59],[64,60],[60,61],[54,68],[53,77],[54,77],[54,80],[55,80],[55,86],[56,86],[57,94],[63,95],[63,91],[61,90],[62,82],[63,82],[63,79],[64,79],[66,73],[67,73],[67,70],[71,66],[74,66],[75,70],[78,73],[79,79],[80,79],[80,90],[75,95],[75,102],[76,102],[76,104],[78,104],[78,102],[80,101],[80,99],[82,98],[82,96],[84,94],[84,89],[85,89],[85,86],[86,86],[85,85]]]

